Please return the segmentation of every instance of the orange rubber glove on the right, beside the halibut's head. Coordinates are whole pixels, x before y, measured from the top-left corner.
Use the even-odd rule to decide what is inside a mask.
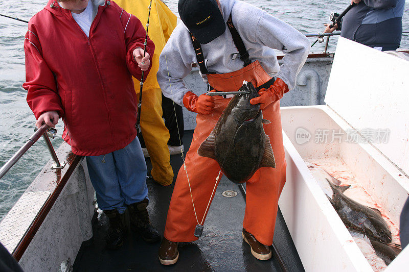
[[[276,102],[283,97],[284,93],[288,92],[287,84],[282,81],[282,79],[277,78],[274,84],[272,84],[268,89],[262,88],[259,90],[260,96],[253,98],[250,104],[256,105],[260,104],[260,109],[265,109],[268,105]]]

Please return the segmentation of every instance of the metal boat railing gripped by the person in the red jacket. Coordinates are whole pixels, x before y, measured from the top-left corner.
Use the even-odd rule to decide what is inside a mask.
[[[65,164],[61,165],[57,155],[55,154],[54,147],[50,141],[51,137],[54,139],[57,133],[56,129],[50,128],[48,125],[44,124],[39,129],[35,130],[35,133],[27,140],[27,142],[21,146],[21,148],[0,168],[0,179],[13,167],[13,165],[24,155],[30,147],[42,136],[44,141],[46,141],[48,150],[51,154],[51,158],[54,160],[54,165],[51,169],[61,169],[64,168]]]

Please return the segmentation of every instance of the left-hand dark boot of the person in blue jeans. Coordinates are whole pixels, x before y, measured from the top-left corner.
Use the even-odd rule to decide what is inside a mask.
[[[124,243],[125,225],[124,215],[117,209],[104,211],[109,218],[109,229],[106,235],[106,246],[108,249],[119,249]]]

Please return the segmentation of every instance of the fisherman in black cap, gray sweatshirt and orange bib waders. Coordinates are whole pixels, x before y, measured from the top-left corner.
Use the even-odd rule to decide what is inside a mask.
[[[177,175],[158,257],[162,264],[173,264],[179,257],[177,243],[200,237],[215,182],[220,180],[216,181],[219,164],[200,157],[197,150],[231,97],[197,96],[186,88],[183,78],[197,63],[209,89],[237,91],[244,80],[252,82],[261,96],[251,103],[261,104],[263,118],[271,121],[264,130],[270,137],[276,168],[262,167],[247,182],[242,230],[252,254],[268,260],[278,199],[286,180],[279,100],[296,85],[310,43],[285,22],[241,1],[179,0],[178,11],[183,23],[162,51],[157,80],[165,96],[198,114],[186,169],[182,166]],[[285,54],[281,67],[274,49]]]

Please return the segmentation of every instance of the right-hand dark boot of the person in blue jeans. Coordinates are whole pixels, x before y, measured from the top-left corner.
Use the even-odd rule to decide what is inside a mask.
[[[149,214],[146,207],[149,201],[144,199],[141,202],[132,203],[128,206],[130,213],[131,230],[141,234],[142,238],[149,242],[157,242],[161,240],[161,235],[155,228],[150,225]]]

